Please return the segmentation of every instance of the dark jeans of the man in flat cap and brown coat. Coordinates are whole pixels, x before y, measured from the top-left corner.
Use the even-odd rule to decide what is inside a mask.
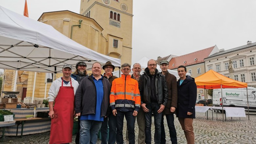
[[[170,138],[172,144],[177,144],[177,134],[176,134],[176,129],[174,126],[174,116],[173,114],[165,115],[167,125],[169,128],[169,133],[170,133]],[[163,124],[163,115],[162,115],[162,120],[161,120],[161,143],[160,144],[165,144],[165,131],[164,131],[164,124]]]

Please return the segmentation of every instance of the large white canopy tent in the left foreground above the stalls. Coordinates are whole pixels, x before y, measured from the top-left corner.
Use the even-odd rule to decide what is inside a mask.
[[[0,68],[61,73],[64,64],[71,64],[74,71],[75,64],[81,60],[86,61],[87,69],[91,69],[95,62],[103,65],[111,61],[116,67],[121,63],[120,59],[76,43],[50,25],[0,6]],[[35,78],[36,73],[34,85]],[[16,81],[13,91],[15,85]],[[34,88],[32,100],[33,96]]]

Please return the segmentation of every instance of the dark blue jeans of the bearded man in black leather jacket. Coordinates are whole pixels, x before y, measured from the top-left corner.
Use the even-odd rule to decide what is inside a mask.
[[[155,143],[160,144],[161,139],[161,119],[162,113],[158,114],[157,111],[160,109],[160,105],[158,103],[149,103],[146,104],[146,108],[149,112],[145,113],[145,143],[151,144],[151,124],[152,124],[152,112],[154,113],[154,121],[155,121]]]

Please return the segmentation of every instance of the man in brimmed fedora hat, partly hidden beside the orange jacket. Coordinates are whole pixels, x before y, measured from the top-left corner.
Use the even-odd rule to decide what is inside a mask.
[[[102,69],[105,70],[103,77],[108,79],[110,82],[110,85],[112,86],[112,81],[117,78],[112,74],[113,70],[115,69],[115,66],[112,65],[110,61],[108,61],[105,63],[105,65],[102,66]],[[100,128],[101,144],[115,144],[116,135],[117,135],[116,117],[113,115],[110,107],[108,107],[106,116],[107,117],[104,118],[104,121],[102,122],[101,128]],[[108,126],[109,126],[109,138],[107,141]]]

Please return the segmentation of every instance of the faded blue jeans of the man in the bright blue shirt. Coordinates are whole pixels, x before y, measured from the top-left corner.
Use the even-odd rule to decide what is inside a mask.
[[[79,144],[96,144],[102,121],[80,120]]]

